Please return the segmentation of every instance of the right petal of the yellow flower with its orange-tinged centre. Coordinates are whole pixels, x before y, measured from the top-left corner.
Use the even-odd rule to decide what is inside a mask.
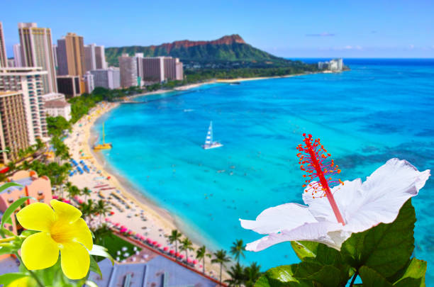
[[[92,249],[93,245],[92,234],[83,218],[79,218],[70,224],[56,221],[51,228],[51,237],[60,244],[80,242],[89,250]]]

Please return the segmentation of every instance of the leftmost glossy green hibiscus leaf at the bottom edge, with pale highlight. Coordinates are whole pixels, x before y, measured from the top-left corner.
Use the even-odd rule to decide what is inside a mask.
[[[269,269],[255,283],[255,287],[310,287],[312,284],[294,277],[298,264],[282,265]]]

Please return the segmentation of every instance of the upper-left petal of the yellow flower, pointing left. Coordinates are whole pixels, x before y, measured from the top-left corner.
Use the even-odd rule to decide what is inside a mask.
[[[16,219],[26,229],[50,231],[55,213],[45,203],[32,203],[16,213]]]

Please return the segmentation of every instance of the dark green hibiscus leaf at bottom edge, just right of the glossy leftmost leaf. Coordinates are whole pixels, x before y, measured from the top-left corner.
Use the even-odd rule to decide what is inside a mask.
[[[341,280],[340,270],[335,266],[315,262],[301,262],[294,276],[309,283],[320,283],[324,287],[342,286],[347,282]]]

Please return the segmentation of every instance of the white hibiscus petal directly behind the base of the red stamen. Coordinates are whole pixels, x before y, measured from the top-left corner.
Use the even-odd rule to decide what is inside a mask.
[[[316,181],[312,181],[309,185],[314,184]],[[354,181],[344,181],[344,184],[340,184],[331,188],[331,193],[335,202],[338,205],[340,214],[343,216],[345,222],[349,220],[347,215],[347,210],[352,209],[354,206],[355,198],[360,196],[360,187],[362,186],[362,181],[360,179],[355,179]],[[303,193],[303,201],[309,206],[309,211],[317,220],[326,220],[331,223],[337,223],[335,213],[328,202],[327,197],[316,197],[313,198],[311,193]]]

